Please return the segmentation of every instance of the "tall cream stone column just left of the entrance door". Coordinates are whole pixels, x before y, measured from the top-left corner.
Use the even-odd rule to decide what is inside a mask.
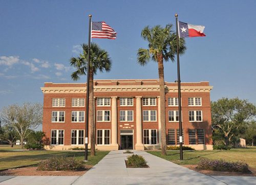
[[[111,149],[118,150],[117,144],[117,97],[111,97]]]

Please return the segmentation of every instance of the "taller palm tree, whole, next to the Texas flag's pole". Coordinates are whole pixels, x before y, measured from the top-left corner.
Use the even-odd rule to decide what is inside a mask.
[[[170,59],[174,62],[177,53],[176,34],[172,31],[172,24],[165,28],[157,25],[153,28],[146,26],[141,31],[141,37],[148,41],[148,49],[140,48],[137,53],[137,60],[140,65],[146,65],[153,60],[158,63],[159,86],[160,86],[160,119],[161,119],[161,150],[162,155],[166,155],[166,132],[165,132],[165,87],[163,60]],[[183,54],[186,50],[185,41],[179,40],[179,53]]]

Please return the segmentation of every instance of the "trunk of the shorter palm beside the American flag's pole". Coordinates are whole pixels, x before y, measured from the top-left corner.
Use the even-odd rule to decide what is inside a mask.
[[[90,140],[91,156],[95,156],[95,126],[94,126],[94,103],[93,103],[93,69],[90,68],[89,76],[89,120],[90,120]]]

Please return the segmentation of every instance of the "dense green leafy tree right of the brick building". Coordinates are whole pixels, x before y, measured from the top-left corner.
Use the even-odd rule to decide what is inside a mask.
[[[256,107],[247,100],[222,98],[211,102],[211,124],[224,135],[228,146],[238,130],[256,115]]]

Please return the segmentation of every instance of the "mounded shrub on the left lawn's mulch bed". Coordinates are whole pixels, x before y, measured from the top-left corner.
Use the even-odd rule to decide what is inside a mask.
[[[84,170],[83,161],[78,161],[73,157],[56,156],[46,160],[41,160],[37,170],[41,171],[61,171],[61,170]]]

